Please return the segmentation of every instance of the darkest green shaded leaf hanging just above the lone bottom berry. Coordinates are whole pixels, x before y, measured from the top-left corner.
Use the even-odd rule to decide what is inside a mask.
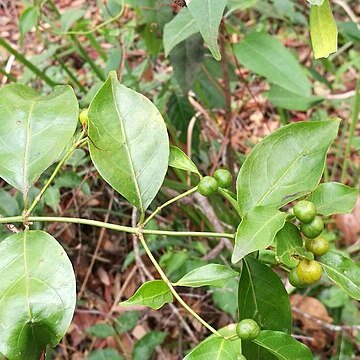
[[[244,259],[238,302],[239,319],[250,318],[262,329],[291,333],[291,306],[282,281],[252,256]]]

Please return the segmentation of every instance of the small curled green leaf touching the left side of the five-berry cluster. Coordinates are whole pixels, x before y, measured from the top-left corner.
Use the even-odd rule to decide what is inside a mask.
[[[304,251],[300,231],[292,223],[286,222],[285,226],[276,234],[276,257],[290,269],[295,267],[299,260],[293,255],[302,254]]]

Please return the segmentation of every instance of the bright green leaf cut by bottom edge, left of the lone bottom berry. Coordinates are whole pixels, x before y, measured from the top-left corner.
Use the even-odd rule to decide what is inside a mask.
[[[231,337],[236,334],[236,325],[231,324],[219,330],[220,334]],[[241,353],[241,340],[226,340],[216,335],[211,335],[196,346],[184,360],[237,360]]]

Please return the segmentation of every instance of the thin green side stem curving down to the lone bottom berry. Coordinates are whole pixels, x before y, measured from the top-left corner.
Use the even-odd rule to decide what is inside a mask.
[[[156,259],[154,258],[152,252],[150,251],[149,247],[147,246],[147,243],[145,241],[144,235],[142,233],[139,233],[138,238],[141,242],[141,245],[145,249],[145,252],[149,259],[151,260],[152,264],[156,268],[157,272],[160,274],[163,281],[167,284],[169,287],[169,290],[174,295],[175,299],[181,304],[181,306],[189,313],[191,314],[197,321],[200,322],[203,326],[205,326],[209,331],[211,331],[214,335],[223,337],[216,329],[214,329],[210,324],[208,324],[201,316],[199,316],[191,307],[181,298],[181,296],[176,292],[175,288],[173,287],[171,281],[168,279],[168,277],[165,275],[163,269],[158,264]]]

